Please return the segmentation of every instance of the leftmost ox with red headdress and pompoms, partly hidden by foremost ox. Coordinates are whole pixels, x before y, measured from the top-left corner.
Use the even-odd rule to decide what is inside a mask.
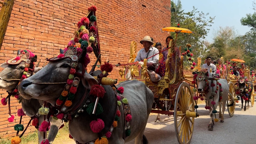
[[[20,116],[24,112],[24,114],[28,115],[29,117],[37,119],[38,123],[36,124],[37,120],[35,120],[33,124],[38,130],[39,125],[41,124],[42,121],[44,121],[44,115],[39,115],[38,109],[41,108],[41,106],[44,104],[44,101],[37,100],[37,99],[30,99],[30,100],[23,99],[19,97],[18,92],[16,92],[15,90],[17,90],[17,85],[19,81],[23,79],[24,73],[26,73],[26,76],[29,77],[30,75],[32,75],[32,72],[37,72],[41,68],[34,67],[33,63],[37,60],[36,55],[34,56],[31,52],[29,53],[28,50],[24,54],[22,54],[22,52],[24,51],[21,51],[20,53],[20,51],[18,50],[16,58],[7,60],[7,63],[1,64],[1,67],[4,69],[2,72],[0,72],[0,89],[7,90],[9,94],[15,95],[15,98],[18,98],[20,100],[22,109],[18,110],[18,115]],[[7,99],[4,98],[2,100],[3,105],[6,104]],[[10,119],[8,120],[11,121]],[[49,131],[48,139],[49,139],[49,142],[52,143],[55,136],[57,135],[58,129],[63,124],[62,124],[62,121],[60,120],[56,121],[56,120],[53,120],[52,118],[50,119],[50,121],[51,121],[51,128]],[[43,132],[40,132],[38,130],[38,143],[40,144],[43,139],[44,139]]]

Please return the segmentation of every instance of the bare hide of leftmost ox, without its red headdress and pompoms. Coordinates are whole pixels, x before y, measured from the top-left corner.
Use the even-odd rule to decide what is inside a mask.
[[[36,58],[36,55],[35,55],[35,58]],[[23,70],[25,68],[25,62],[21,62],[18,65],[9,65],[7,63],[3,63],[3,64],[1,64],[1,67],[4,69],[2,72],[0,72],[0,78],[2,78],[2,79],[20,79],[21,76],[23,75]],[[36,72],[40,69],[41,68],[35,68],[34,72]],[[18,85],[18,82],[19,81],[17,81],[17,80],[1,80],[0,79],[0,89],[5,89],[8,92],[13,92],[13,90]],[[44,101],[37,100],[34,98],[32,98],[30,100],[22,99],[22,101],[21,101],[22,109],[23,109],[24,113],[29,117],[34,116],[38,112],[38,109],[41,108],[41,106],[43,104],[44,104]],[[38,118],[38,124],[40,125],[42,121],[44,121],[44,115],[41,115]],[[49,143],[52,143],[58,133],[59,128],[62,125],[62,121],[61,120],[55,121],[52,118],[50,118],[50,122],[51,122],[51,127],[49,130],[49,135],[48,135],[47,139],[49,140]],[[37,128],[37,130],[38,130],[38,128]],[[43,132],[40,132],[38,130],[38,144],[41,144],[41,141],[43,141],[43,139],[44,139]]]

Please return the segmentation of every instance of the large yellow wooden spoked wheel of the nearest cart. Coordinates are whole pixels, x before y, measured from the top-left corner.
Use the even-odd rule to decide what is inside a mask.
[[[175,98],[174,118],[177,140],[180,144],[189,144],[194,130],[195,103],[189,84],[180,84]]]

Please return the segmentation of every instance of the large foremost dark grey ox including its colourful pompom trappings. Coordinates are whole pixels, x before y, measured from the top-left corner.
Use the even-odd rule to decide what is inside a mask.
[[[52,115],[69,121],[70,138],[78,144],[124,144],[134,138],[136,144],[147,144],[144,130],[154,101],[151,90],[140,81],[122,82],[116,90],[100,86],[108,73],[103,71],[97,81],[84,72],[87,50],[81,47],[70,46],[64,55],[49,59],[47,66],[20,83],[20,95],[51,103]]]

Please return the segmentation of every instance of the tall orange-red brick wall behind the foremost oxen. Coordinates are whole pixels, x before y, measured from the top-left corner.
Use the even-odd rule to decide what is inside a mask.
[[[138,43],[137,51],[142,45],[139,41],[149,35],[155,42],[164,43],[167,32],[163,27],[170,26],[170,0],[15,0],[5,40],[0,51],[0,63],[15,57],[18,49],[29,49],[41,59],[40,66],[46,58],[58,55],[73,37],[76,23],[87,14],[87,8],[93,3],[98,7],[97,20],[102,61],[112,64],[127,63],[130,43]],[[91,65],[96,58],[89,55]],[[111,72],[111,78],[120,78],[118,67]],[[0,69],[2,70],[2,69]],[[6,97],[4,90],[1,97]],[[17,112],[20,104],[12,98],[12,112]],[[7,121],[8,108],[0,105],[0,136],[14,135],[13,127],[18,123]],[[14,113],[13,113],[14,114]],[[23,124],[29,120],[24,118]],[[28,132],[33,131],[29,127]]]

